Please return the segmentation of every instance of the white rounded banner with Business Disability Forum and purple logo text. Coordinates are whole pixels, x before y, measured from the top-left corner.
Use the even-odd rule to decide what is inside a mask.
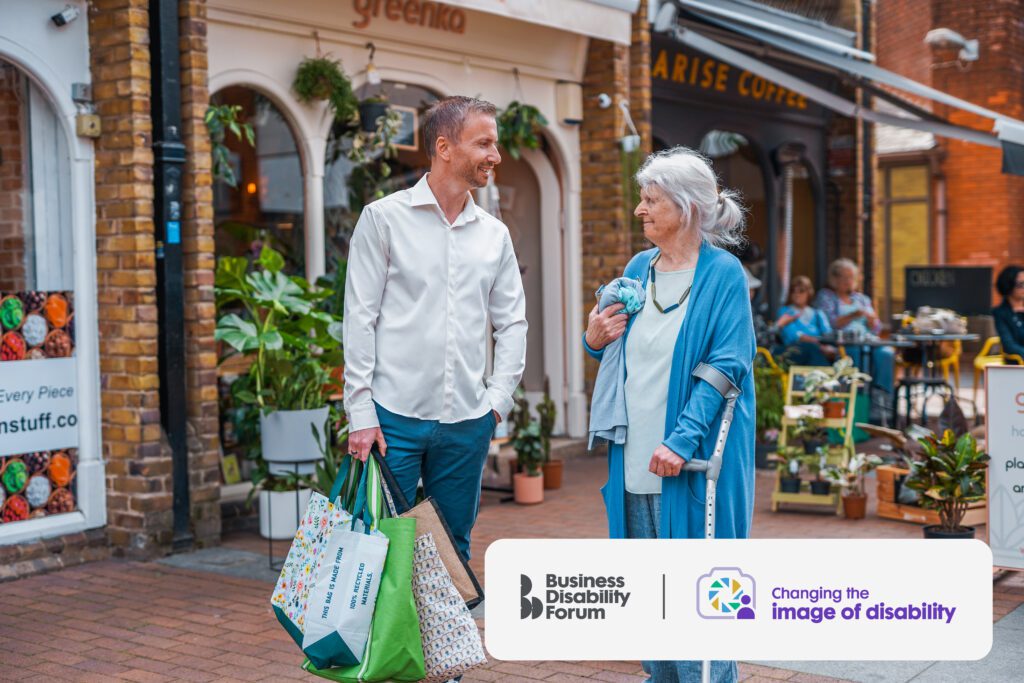
[[[981,541],[502,540],[484,558],[499,659],[980,659]]]

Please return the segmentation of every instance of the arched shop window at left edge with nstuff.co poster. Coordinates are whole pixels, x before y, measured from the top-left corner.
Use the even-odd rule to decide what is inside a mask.
[[[78,507],[74,401],[66,415],[38,410],[49,404],[40,386],[75,372],[73,253],[63,127],[36,83],[0,59],[0,529]],[[30,387],[35,404],[11,398]]]

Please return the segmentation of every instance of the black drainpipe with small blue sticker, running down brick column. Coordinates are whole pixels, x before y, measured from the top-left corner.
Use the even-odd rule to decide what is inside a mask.
[[[177,0],[150,0],[154,156],[153,218],[157,243],[160,421],[171,446],[172,550],[193,545],[185,415],[184,275],[181,259],[181,65]]]

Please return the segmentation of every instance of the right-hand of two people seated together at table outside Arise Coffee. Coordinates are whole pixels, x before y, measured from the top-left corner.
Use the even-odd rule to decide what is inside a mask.
[[[828,266],[831,289],[818,292],[814,307],[821,309],[837,332],[859,332],[865,337],[878,335],[882,331],[882,322],[874,313],[870,297],[857,291],[859,284],[860,267],[856,263],[848,258],[833,261]],[[863,347],[851,343],[846,346],[846,351],[857,368],[864,368],[860,357]],[[893,349],[891,346],[876,346],[870,351],[872,384],[891,394],[895,368]]]

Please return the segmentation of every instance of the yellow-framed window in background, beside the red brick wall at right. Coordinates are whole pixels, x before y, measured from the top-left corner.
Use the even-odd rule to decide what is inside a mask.
[[[905,268],[931,262],[927,165],[884,167],[881,173],[882,229],[874,240],[874,291],[884,319],[903,312]]]

